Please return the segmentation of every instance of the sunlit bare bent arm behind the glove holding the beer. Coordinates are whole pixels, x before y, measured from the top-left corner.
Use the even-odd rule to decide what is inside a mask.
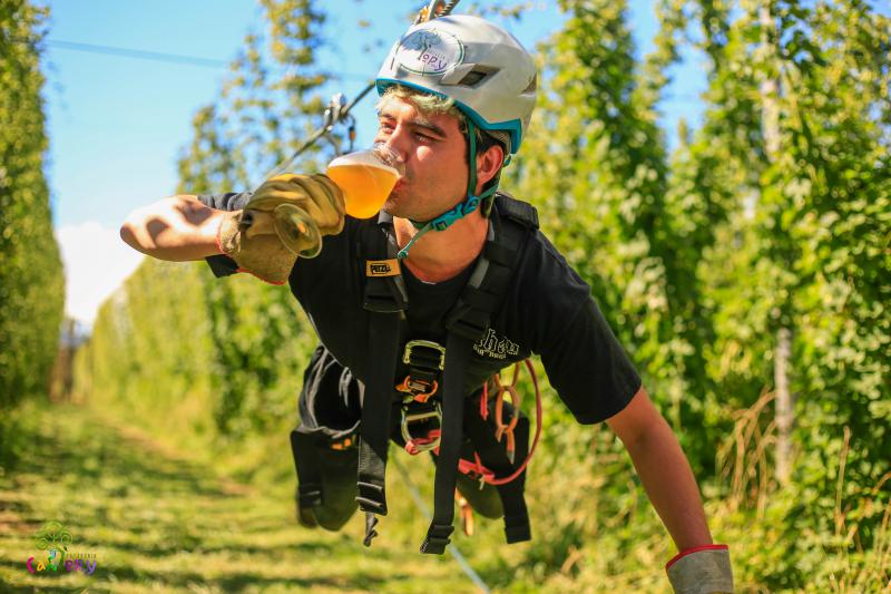
[[[195,196],[172,196],[130,213],[120,226],[120,238],[159,260],[202,260],[221,253],[217,231],[226,214]]]

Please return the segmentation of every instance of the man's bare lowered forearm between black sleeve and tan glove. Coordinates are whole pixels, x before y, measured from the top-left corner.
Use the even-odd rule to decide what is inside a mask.
[[[696,479],[670,427],[659,420],[625,447],[678,551],[711,544]]]

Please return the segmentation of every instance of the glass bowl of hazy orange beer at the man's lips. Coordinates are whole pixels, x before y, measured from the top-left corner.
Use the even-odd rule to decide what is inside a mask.
[[[399,156],[384,144],[343,155],[327,165],[327,176],[343,192],[346,214],[369,218],[378,214],[405,174]]]

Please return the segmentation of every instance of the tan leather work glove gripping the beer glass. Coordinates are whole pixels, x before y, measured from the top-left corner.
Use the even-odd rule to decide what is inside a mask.
[[[284,284],[297,255],[315,257],[322,237],[343,230],[343,194],[324,175],[277,175],[261,185],[241,212],[217,231],[219,251],[239,269]]]

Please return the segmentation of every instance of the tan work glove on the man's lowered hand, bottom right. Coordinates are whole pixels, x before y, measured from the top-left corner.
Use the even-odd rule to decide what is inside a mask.
[[[665,566],[675,594],[733,594],[727,545],[706,545],[679,553]]]

